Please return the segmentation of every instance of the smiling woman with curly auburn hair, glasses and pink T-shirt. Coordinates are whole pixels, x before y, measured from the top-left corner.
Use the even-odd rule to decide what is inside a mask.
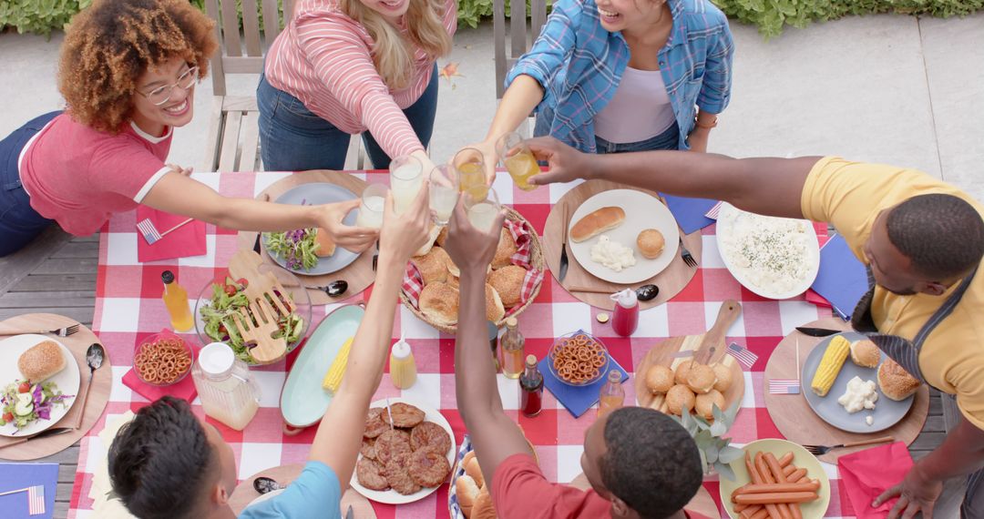
[[[0,257],[52,220],[88,235],[138,204],[226,229],[327,229],[368,247],[372,229],[341,219],[358,201],[300,206],[229,199],[166,164],[173,129],[192,118],[215,23],[182,0],[96,0],[73,20],[58,72],[65,112],[37,117],[0,141]]]

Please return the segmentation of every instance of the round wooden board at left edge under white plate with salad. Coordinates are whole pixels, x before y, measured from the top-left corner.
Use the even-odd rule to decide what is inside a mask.
[[[0,321],[0,328],[3,329],[55,329],[64,326],[79,324],[79,322],[69,317],[56,316],[54,314],[25,314],[23,316],[11,317]],[[89,365],[86,364],[86,352],[92,343],[99,342],[98,337],[92,330],[79,324],[79,331],[68,337],[55,337],[64,344],[75,356],[75,361],[79,364],[80,382],[79,392],[76,398],[82,398],[85,394],[86,386],[89,384]],[[73,432],[65,432],[39,439],[31,439],[26,442],[15,442],[15,438],[0,437],[0,458],[14,461],[26,461],[50,456],[61,452],[72,446],[85,436],[92,426],[99,421],[102,411],[106,408],[109,401],[109,392],[113,383],[112,363],[109,362],[109,349],[105,349],[105,358],[102,366],[95,371],[92,376],[92,389],[89,390],[89,399],[86,401],[85,410],[81,406],[72,406],[72,409],[52,428],[75,427],[79,423],[80,413],[82,413],[82,423],[79,429]],[[13,380],[0,380],[0,384],[6,385]],[[4,448],[5,444],[11,444],[10,448]]]

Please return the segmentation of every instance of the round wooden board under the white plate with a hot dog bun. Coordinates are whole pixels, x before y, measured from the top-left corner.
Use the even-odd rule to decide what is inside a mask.
[[[554,204],[553,208],[550,210],[550,214],[547,216],[546,223],[543,225],[543,259],[546,259],[547,267],[550,268],[551,272],[553,272],[555,278],[557,277],[557,272],[560,268],[560,251],[561,242],[564,239],[564,226],[569,224],[571,215],[574,214],[574,211],[577,210],[585,200],[597,195],[598,193],[613,189],[631,189],[641,191],[657,199],[659,198],[658,194],[650,191],[640,190],[631,186],[624,186],[622,184],[602,180],[591,180],[584,182],[584,184],[581,184],[573,190],[567,192],[567,194],[564,195],[560,201]],[[631,210],[630,208],[626,209]],[[692,255],[694,255],[694,259],[697,259],[698,263],[700,263],[703,254],[703,240],[701,238],[701,232],[696,231],[684,236],[681,231],[681,236],[683,237],[683,243],[686,245],[687,249]],[[570,242],[570,238],[568,241]],[[570,243],[568,243],[567,258],[567,276],[564,277],[563,283],[558,282],[558,284],[561,284],[561,286],[564,287],[583,286],[587,288],[603,289],[607,291],[607,293],[590,294],[586,292],[571,292],[571,295],[592,307],[613,310],[615,308],[615,302],[611,300],[609,294],[614,294],[615,292],[623,290],[630,285],[618,285],[594,277],[592,274],[587,272],[587,270],[584,270],[584,267],[581,266],[581,264],[578,263],[578,260],[574,258],[574,254],[572,254],[570,249]],[[695,273],[697,273],[697,268],[687,266],[687,264],[683,262],[683,258],[680,257],[680,253],[678,251],[676,258],[673,259],[673,262],[671,262],[662,272],[659,272],[642,283],[632,285],[632,287],[635,288],[640,285],[651,283],[659,287],[659,295],[650,301],[640,301],[640,308],[646,310],[669,301],[674,296],[679,294],[688,283],[690,283],[690,280],[693,279]]]

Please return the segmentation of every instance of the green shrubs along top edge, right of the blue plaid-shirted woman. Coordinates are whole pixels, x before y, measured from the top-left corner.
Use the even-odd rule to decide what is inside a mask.
[[[711,0],[732,20],[759,27],[766,38],[782,33],[785,25],[804,28],[847,15],[897,13],[949,18],[984,8],[984,0]]]

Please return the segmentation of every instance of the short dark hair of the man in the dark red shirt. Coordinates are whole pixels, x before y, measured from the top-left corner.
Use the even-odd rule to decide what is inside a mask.
[[[653,409],[624,407],[608,415],[601,483],[647,519],[680,511],[704,479],[690,433]]]

